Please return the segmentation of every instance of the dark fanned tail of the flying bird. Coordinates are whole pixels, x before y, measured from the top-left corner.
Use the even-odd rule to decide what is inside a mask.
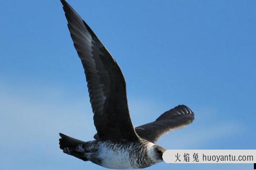
[[[60,137],[60,149],[63,150],[64,153],[75,156],[83,161],[88,161],[88,159],[83,156],[83,148],[81,147],[83,144],[86,144],[86,142],[66,136],[62,133],[60,133]]]

